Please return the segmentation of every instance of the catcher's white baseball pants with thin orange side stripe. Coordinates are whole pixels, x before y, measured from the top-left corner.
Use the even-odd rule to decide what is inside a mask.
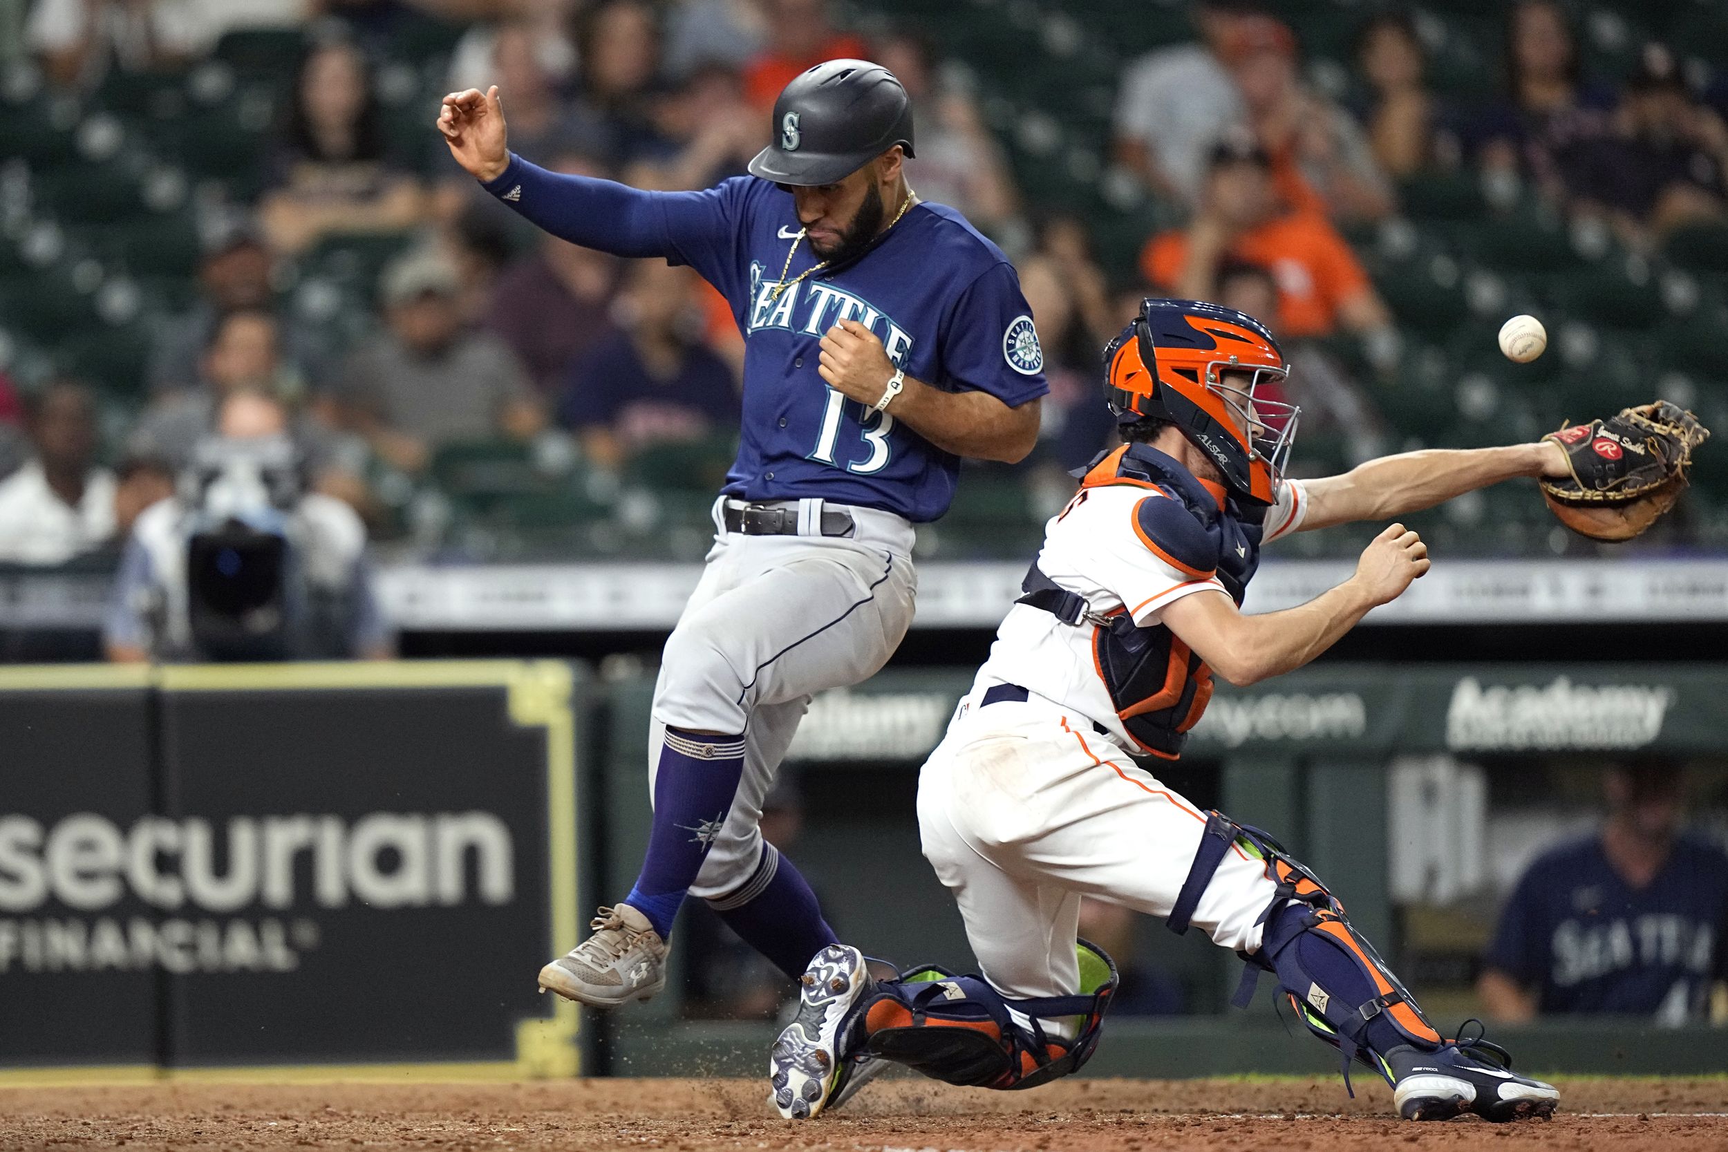
[[[954,893],[980,974],[1009,998],[1080,990],[1080,896],[1168,917],[1206,815],[1085,717],[1040,696],[961,701],[918,781],[924,857]],[[1265,864],[1223,857],[1192,924],[1255,952],[1272,903]]]

